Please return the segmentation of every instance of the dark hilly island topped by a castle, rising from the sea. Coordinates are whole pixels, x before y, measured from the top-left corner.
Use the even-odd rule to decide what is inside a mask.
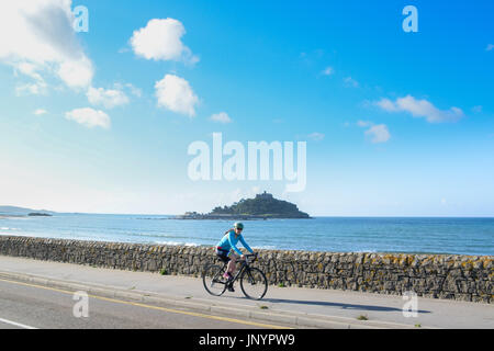
[[[176,219],[274,219],[274,218],[311,218],[295,204],[278,200],[266,191],[254,199],[242,199],[232,206],[217,206],[207,214],[186,212]]]

